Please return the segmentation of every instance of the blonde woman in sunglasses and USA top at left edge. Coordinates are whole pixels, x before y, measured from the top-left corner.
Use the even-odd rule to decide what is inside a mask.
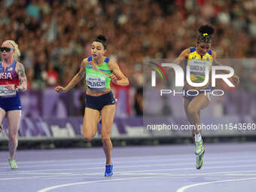
[[[0,47],[2,61],[0,62],[0,123],[5,115],[8,118],[9,153],[8,162],[11,169],[17,169],[14,154],[18,145],[18,130],[21,117],[19,91],[27,88],[25,69],[17,61],[20,56],[18,45],[11,40],[4,41]]]

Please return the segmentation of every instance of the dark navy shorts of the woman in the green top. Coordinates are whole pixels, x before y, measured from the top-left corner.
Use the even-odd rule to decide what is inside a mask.
[[[105,105],[114,105],[114,94],[110,91],[102,96],[89,96],[86,95],[86,108],[92,108],[98,111],[102,111]]]

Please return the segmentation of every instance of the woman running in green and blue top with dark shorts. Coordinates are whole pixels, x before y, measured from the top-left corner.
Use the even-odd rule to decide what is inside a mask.
[[[112,143],[111,127],[114,120],[115,99],[111,92],[110,82],[127,86],[128,79],[120,71],[117,63],[104,56],[106,38],[99,35],[91,45],[91,54],[81,62],[80,71],[66,87],[57,86],[56,91],[68,91],[86,76],[86,108],[84,111],[83,135],[90,141],[96,135],[100,112],[102,114],[102,145],[106,157],[105,176],[113,175],[111,162]],[[119,80],[117,80],[117,78]]]

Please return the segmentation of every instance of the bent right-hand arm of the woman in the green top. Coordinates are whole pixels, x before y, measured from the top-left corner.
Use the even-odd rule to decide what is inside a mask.
[[[120,71],[120,68],[117,65],[117,63],[110,60],[109,63],[108,63],[108,66],[109,66],[109,69],[111,70],[111,72],[113,72],[113,74],[116,75],[117,78],[119,78],[119,80],[117,80],[117,78],[114,75],[109,75],[109,78],[112,79],[114,84],[117,84],[117,85],[120,85],[120,86],[129,85],[128,79],[126,78],[126,76],[123,75],[123,72]]]

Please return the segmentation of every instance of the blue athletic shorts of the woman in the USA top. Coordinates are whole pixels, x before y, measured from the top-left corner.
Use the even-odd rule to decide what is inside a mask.
[[[11,97],[0,96],[0,108],[4,109],[6,112],[11,110],[22,110],[19,93],[17,93],[16,96]]]

